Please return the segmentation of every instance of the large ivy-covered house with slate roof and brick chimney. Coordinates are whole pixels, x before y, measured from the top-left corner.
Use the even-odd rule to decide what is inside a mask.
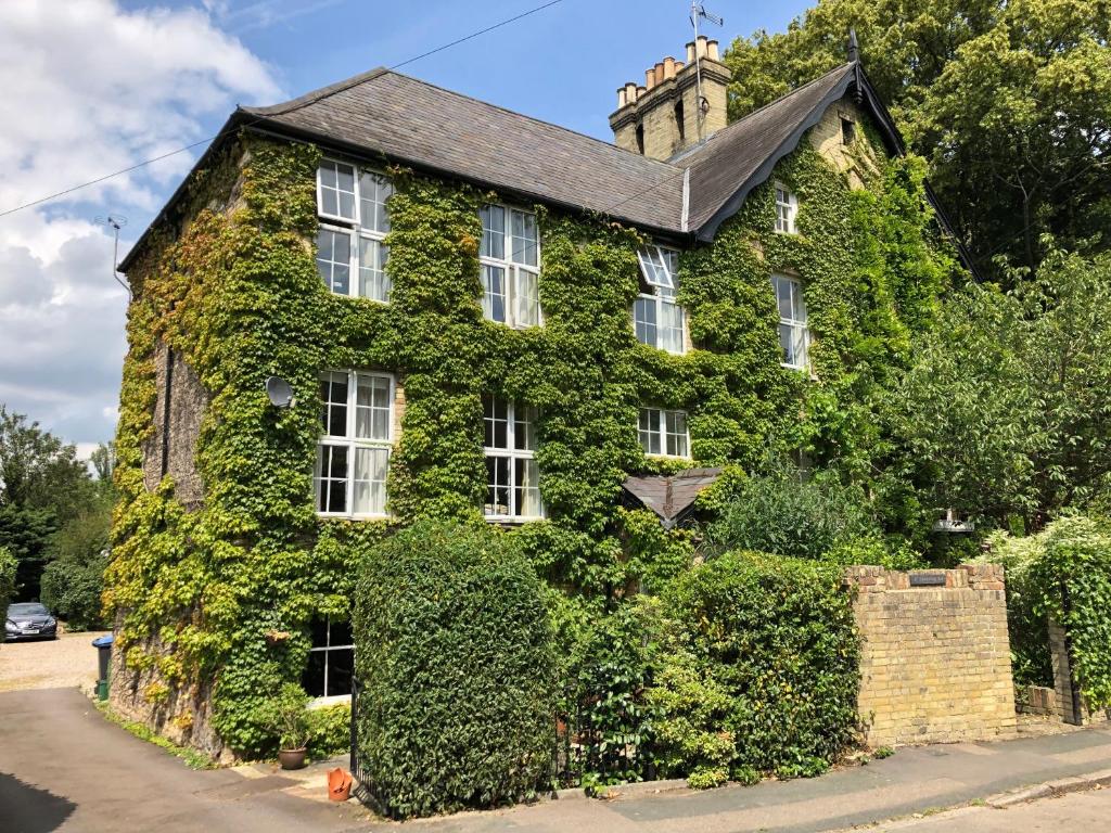
[[[504,525],[612,599],[771,439],[863,456],[954,259],[850,59],[727,124],[700,39],[615,144],[384,69],[237,110],[122,264],[117,707],[256,753],[282,681],[349,691],[350,568],[397,524]]]

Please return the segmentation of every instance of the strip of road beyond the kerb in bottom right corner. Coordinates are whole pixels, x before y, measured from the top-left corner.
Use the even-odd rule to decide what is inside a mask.
[[[1007,810],[965,807],[929,819],[907,820],[875,827],[877,833],[1061,833],[1069,830],[1084,833],[1111,830],[1111,790],[1071,793]]]

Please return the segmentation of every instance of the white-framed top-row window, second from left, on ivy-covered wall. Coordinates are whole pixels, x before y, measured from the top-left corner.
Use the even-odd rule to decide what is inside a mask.
[[[482,314],[517,329],[540,327],[540,233],[537,215],[504,205],[483,205]]]

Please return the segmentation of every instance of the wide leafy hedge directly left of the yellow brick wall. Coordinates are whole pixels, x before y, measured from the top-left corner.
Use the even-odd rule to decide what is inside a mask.
[[[663,769],[692,786],[817,775],[857,737],[859,641],[841,568],[729,553],[662,598]]]

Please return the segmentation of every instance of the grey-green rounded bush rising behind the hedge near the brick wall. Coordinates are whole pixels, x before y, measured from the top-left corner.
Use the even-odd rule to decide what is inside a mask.
[[[864,495],[832,478],[800,480],[780,468],[742,481],[707,528],[713,553],[732,550],[819,559],[855,539],[878,534]]]

